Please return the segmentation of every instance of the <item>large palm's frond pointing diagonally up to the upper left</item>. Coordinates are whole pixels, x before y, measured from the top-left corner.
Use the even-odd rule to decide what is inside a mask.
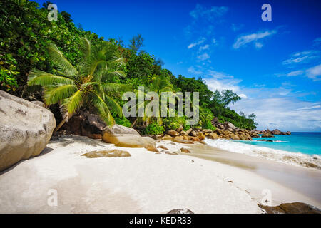
[[[63,57],[63,53],[59,51],[54,43],[49,44],[48,52],[51,57],[51,61],[58,64],[58,66],[61,68],[61,71],[63,71],[66,75],[76,76],[78,74],[76,68],[74,68],[71,63],[69,63],[69,61]]]

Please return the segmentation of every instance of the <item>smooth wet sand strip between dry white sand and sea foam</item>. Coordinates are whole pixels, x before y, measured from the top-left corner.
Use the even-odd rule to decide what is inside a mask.
[[[321,170],[229,152],[210,145],[192,145],[190,148],[193,151],[190,156],[255,172],[321,204]]]

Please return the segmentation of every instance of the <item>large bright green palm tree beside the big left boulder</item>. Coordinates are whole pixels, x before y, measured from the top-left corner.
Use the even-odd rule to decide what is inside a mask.
[[[44,86],[46,105],[61,105],[63,120],[54,131],[82,107],[95,110],[107,125],[115,123],[111,110],[122,115],[121,107],[109,94],[125,91],[128,86],[107,81],[110,76],[125,76],[123,71],[118,71],[124,59],[111,43],[104,41],[92,46],[86,38],[81,41],[83,58],[77,67],[72,66],[56,45],[51,44],[48,47],[49,56],[58,66],[58,71],[54,70],[55,74],[39,70],[29,73],[29,86]]]

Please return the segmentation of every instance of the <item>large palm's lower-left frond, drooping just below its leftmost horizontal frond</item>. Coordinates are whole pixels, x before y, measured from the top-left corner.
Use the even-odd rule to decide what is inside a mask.
[[[76,93],[77,86],[61,85],[54,87],[46,87],[44,90],[44,100],[46,105],[53,105],[66,98],[69,98],[73,93]]]

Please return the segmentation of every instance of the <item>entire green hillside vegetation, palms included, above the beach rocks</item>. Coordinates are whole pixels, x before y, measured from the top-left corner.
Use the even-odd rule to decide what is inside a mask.
[[[47,19],[43,7],[34,1],[0,2],[0,89],[27,100],[44,100],[60,128],[79,110],[98,113],[108,125],[118,123],[143,128],[146,134],[184,129],[186,117],[125,118],[121,114],[123,91],[198,92],[200,121],[195,128],[214,129],[213,118],[229,121],[238,128],[255,128],[255,115],[230,110],[240,100],[230,90],[211,91],[202,78],[174,76],[163,61],[143,51],[141,35],[128,45],[121,39],[99,37],[73,24],[71,15],[58,12],[57,21]],[[143,104],[148,106],[148,101]],[[137,107],[138,108],[138,107]],[[177,114],[177,113],[176,113]]]

